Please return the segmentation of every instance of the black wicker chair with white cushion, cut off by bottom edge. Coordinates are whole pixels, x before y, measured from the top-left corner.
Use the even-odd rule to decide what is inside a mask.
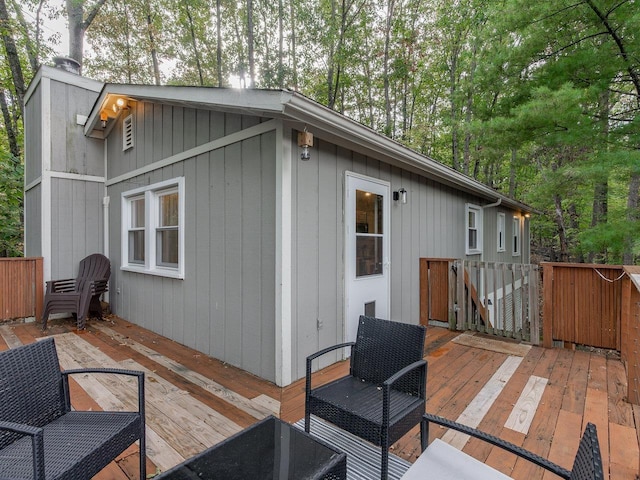
[[[481,430],[429,413],[425,413],[424,419],[426,421],[427,435],[429,432],[429,424],[435,423],[502,448],[566,480],[602,480],[604,478],[598,433],[595,425],[592,423],[588,423],[585,428],[573,462],[573,468],[569,471],[546,458],[540,457],[522,447]],[[425,478],[425,472],[429,472],[434,478],[438,478],[441,469],[446,470],[446,473],[443,473],[443,475],[447,475],[446,478],[455,478],[456,480],[509,478],[497,470],[493,470],[491,467],[475,460],[461,450],[457,450],[442,441],[438,440],[438,442],[439,444],[433,452],[431,449],[435,446],[435,441],[429,445],[426,452],[416,460],[403,478],[407,480],[422,479]],[[446,456],[447,458],[443,460],[443,458],[438,458],[438,456]]]

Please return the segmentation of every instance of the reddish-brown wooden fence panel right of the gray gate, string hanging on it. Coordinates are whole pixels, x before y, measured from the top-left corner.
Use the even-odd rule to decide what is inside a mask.
[[[542,263],[543,345],[620,350],[621,266]]]

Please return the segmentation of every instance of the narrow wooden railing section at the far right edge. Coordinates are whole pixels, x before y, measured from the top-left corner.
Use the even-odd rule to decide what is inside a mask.
[[[620,357],[627,370],[627,400],[640,405],[640,267],[624,271]]]

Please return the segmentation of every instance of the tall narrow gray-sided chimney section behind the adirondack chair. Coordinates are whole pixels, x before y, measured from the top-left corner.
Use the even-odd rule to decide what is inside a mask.
[[[104,243],[103,142],[82,125],[99,89],[47,67],[34,82],[25,102],[25,254],[45,257],[45,280],[72,278]]]

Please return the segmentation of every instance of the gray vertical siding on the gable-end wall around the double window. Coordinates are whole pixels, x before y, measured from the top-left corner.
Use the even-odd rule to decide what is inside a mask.
[[[109,177],[257,125],[261,119],[138,102],[135,146],[109,137]],[[121,271],[111,305],[127,320],[275,381],[275,130],[110,184],[110,251],[122,264],[121,194],[185,179],[185,278]],[[120,153],[118,153],[120,152]]]

